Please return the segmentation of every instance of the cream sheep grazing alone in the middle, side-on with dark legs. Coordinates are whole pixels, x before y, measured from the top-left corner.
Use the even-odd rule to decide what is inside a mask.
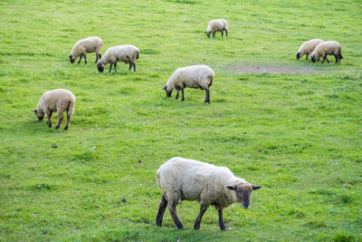
[[[206,91],[205,102],[210,103],[209,87],[213,83],[213,80],[214,71],[207,65],[190,65],[178,68],[168,79],[163,90],[166,91],[167,97],[171,97],[171,93],[175,89],[177,92],[175,99],[178,99],[178,93],[181,91],[181,101],[184,101],[184,88],[199,88]]]

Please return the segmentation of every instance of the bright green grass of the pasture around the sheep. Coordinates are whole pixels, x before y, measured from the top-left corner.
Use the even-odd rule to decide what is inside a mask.
[[[362,240],[362,5],[360,1],[0,1],[0,240]],[[211,19],[229,37],[207,38]],[[140,49],[137,73],[98,73],[68,56],[97,35],[104,53]],[[296,60],[311,38],[342,44],[340,64]],[[329,58],[334,62],[334,57]],[[176,68],[214,69],[211,104],[162,88]],[[319,74],[245,74],[239,66],[312,68]],[[106,67],[108,70],[109,65]],[[43,92],[77,98],[68,131],[31,110]],[[57,115],[53,115],[55,123]],[[63,128],[65,121],[62,123]],[[56,145],[57,148],[52,148]],[[251,207],[185,201],[177,230],[156,171],[181,156],[227,166],[260,184]]]

